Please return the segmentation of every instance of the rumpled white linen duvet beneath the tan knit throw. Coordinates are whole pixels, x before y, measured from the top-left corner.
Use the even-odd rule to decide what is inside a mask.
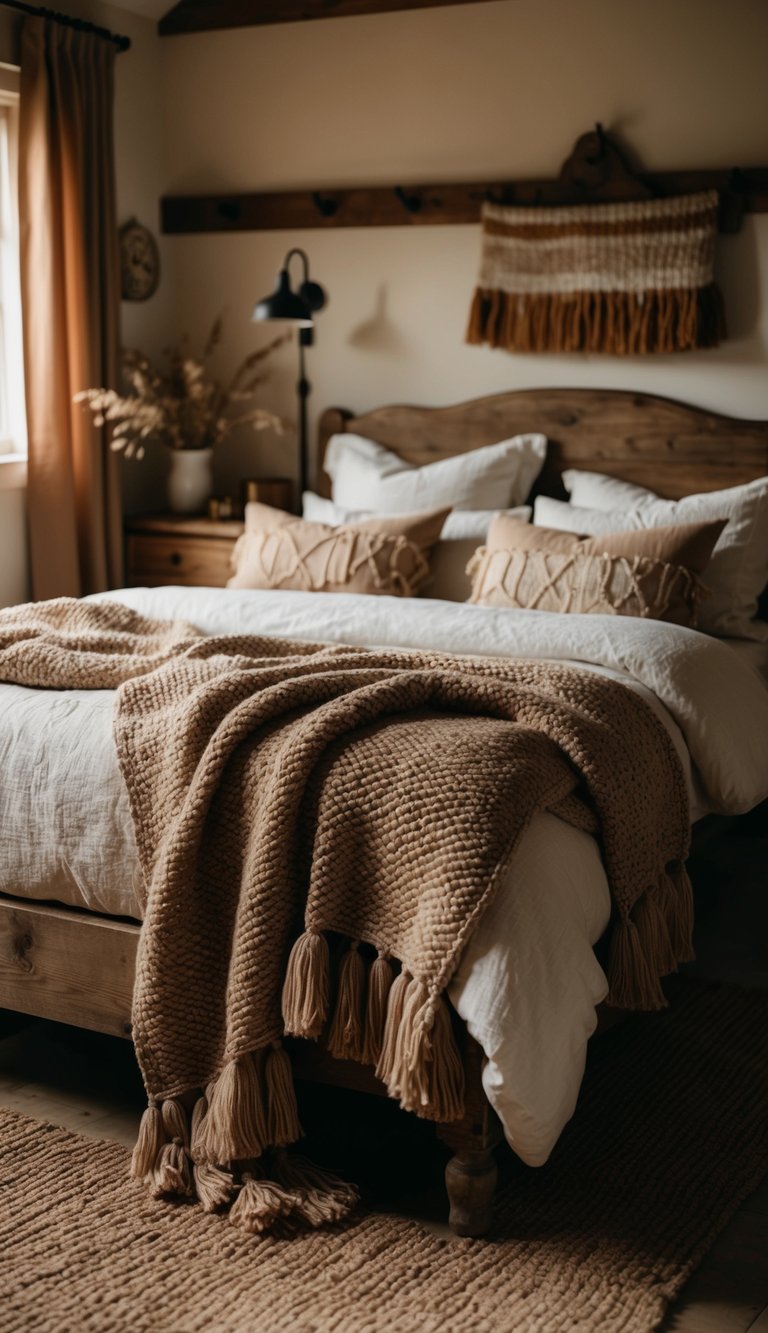
[[[692,818],[768,796],[768,690],[728,645],[660,621],[356,595],[132,588],[109,597],[208,633],[541,657],[640,692],[683,761]],[[0,686],[0,890],[140,917],[113,694]],[[632,762],[631,753],[627,762]],[[449,994],[488,1057],[512,1148],[544,1162],[573,1112],[607,982],[592,945],[611,910],[597,846],[552,814],[521,838]]]

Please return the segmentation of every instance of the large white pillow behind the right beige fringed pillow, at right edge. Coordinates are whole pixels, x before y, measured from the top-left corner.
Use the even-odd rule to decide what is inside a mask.
[[[573,472],[564,473],[564,480],[567,476],[573,477]],[[639,492],[643,488],[629,489]],[[652,491],[645,491],[641,504],[625,509],[580,508],[549,500],[548,496],[539,496],[533,508],[535,524],[585,536],[663,528],[672,523],[707,523],[711,519],[727,519],[728,524],[703,575],[709,596],[699,608],[699,628],[723,639],[765,643],[768,624],[755,617],[757,599],[768,584],[768,477],[683,500],[660,500]]]

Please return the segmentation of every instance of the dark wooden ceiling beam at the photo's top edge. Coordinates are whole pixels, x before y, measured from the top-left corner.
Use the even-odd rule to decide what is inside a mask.
[[[220,28],[255,28],[268,23],[301,23],[307,19],[349,19],[396,9],[436,9],[485,0],[180,0],[160,19],[161,37],[180,32],[216,32]]]

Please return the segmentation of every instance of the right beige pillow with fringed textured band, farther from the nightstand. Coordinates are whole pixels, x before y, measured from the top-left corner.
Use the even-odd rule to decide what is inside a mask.
[[[471,601],[696,625],[704,571],[723,523],[577,537],[499,516],[468,567]]]

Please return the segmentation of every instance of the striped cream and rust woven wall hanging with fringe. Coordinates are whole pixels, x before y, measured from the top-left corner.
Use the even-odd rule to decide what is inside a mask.
[[[717,192],[575,208],[483,207],[468,343],[508,352],[684,352],[725,336]]]

